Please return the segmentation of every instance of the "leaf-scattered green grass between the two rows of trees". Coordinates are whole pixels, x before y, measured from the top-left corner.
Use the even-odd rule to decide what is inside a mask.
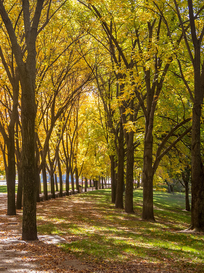
[[[63,250],[86,260],[173,261],[175,267],[199,272],[204,239],[202,234],[179,232],[190,224],[190,212],[183,211],[185,194],[179,196],[154,192],[156,223],[140,219],[142,190],[134,190],[136,213],[131,215],[114,209],[109,189],[51,200],[38,207],[38,232],[62,235],[68,241]]]

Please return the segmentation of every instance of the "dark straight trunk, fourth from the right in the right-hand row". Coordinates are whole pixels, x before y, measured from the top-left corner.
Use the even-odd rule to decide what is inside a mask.
[[[123,183],[124,183],[124,132],[123,123],[120,121],[120,133],[118,138],[118,170],[115,207],[123,209]]]

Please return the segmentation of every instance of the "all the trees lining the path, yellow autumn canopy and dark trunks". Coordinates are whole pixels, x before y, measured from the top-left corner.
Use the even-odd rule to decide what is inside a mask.
[[[78,187],[81,173],[97,179],[110,163],[112,202],[123,208],[126,184],[127,213],[141,174],[142,218],[153,221],[155,180],[191,165],[190,228],[203,229],[204,6],[197,4],[0,2],[1,150],[8,214],[16,213],[16,166],[17,207],[24,188],[23,239],[37,238],[40,173],[46,195],[48,170],[54,197],[61,164],[68,193],[69,175]]]

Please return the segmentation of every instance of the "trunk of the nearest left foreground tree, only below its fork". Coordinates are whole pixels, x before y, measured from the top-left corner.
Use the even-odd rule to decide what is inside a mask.
[[[21,77],[23,223],[22,240],[36,240],[35,80],[30,72]],[[35,74],[35,72],[34,72]],[[35,79],[35,77],[34,77]],[[38,187],[39,188],[39,187]]]

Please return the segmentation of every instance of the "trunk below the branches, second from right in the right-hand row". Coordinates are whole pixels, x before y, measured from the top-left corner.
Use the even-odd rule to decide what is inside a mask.
[[[144,137],[144,153],[143,153],[143,210],[142,219],[153,220],[153,136],[152,133],[145,133]]]

